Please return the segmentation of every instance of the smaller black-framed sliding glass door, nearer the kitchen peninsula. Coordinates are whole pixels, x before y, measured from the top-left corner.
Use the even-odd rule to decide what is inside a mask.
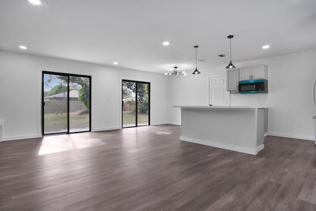
[[[122,80],[122,127],[150,125],[150,83]]]

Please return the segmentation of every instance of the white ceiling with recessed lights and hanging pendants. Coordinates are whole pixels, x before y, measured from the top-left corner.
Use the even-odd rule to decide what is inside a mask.
[[[228,35],[233,63],[316,49],[316,0],[41,1],[0,0],[0,49],[161,74],[228,65]]]

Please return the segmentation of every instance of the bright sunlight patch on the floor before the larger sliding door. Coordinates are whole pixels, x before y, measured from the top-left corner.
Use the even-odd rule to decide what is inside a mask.
[[[39,155],[86,148],[105,144],[100,139],[91,137],[91,133],[71,135],[45,136],[40,147]]]

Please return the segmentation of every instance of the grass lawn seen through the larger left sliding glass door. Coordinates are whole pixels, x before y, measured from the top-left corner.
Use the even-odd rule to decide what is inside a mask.
[[[89,114],[79,115],[78,112],[69,113],[69,122],[70,130],[89,129]],[[45,133],[67,131],[67,113],[63,113],[63,115],[45,113],[44,131]]]

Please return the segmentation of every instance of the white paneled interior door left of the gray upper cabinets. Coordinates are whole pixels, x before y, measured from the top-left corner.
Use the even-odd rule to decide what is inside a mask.
[[[230,93],[227,92],[226,75],[209,77],[209,105],[230,106]]]

